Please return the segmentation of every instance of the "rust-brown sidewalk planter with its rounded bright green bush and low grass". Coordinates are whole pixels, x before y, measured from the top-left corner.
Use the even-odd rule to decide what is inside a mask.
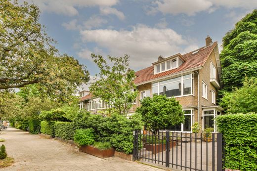
[[[110,142],[95,142],[92,128],[77,129],[74,141],[80,145],[80,151],[100,158],[114,156],[114,148]]]

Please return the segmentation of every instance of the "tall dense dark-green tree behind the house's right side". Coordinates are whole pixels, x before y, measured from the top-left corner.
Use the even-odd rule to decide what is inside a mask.
[[[223,37],[220,53],[224,91],[241,87],[245,76],[257,77],[257,9],[246,15]],[[221,93],[222,93],[221,91]]]

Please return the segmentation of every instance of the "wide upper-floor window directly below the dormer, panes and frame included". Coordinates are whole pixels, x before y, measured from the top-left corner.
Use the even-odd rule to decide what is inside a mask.
[[[194,94],[194,74],[188,74],[173,79],[152,84],[152,94],[176,97]]]

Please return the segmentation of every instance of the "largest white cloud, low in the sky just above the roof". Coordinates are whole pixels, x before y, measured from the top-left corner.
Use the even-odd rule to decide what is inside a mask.
[[[99,49],[104,48],[108,49],[105,53],[112,56],[128,54],[131,68],[150,66],[159,55],[167,57],[184,51],[181,46],[190,45],[172,29],[150,28],[145,25],[137,25],[131,31],[84,30],[81,31],[81,36],[84,43],[95,43],[97,48],[94,50],[98,52],[84,49],[79,52],[80,57],[87,57],[91,52],[98,54],[101,52]]]

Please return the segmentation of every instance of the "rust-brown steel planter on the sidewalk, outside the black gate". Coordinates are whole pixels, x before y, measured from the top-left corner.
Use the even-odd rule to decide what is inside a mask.
[[[114,148],[110,148],[108,150],[99,150],[98,148],[95,148],[91,145],[83,145],[80,147],[80,151],[96,157],[100,157],[102,159],[114,156]]]

